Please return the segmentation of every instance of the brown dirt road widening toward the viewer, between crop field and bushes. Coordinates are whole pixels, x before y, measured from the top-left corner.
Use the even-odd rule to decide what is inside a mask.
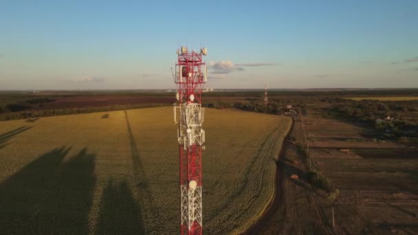
[[[276,197],[247,234],[333,233],[328,212],[331,209],[325,206],[324,195],[306,181],[306,160],[300,149],[303,140],[302,123],[295,118],[277,162]]]

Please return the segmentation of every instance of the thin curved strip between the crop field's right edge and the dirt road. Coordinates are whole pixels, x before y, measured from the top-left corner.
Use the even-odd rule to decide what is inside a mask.
[[[285,136],[283,137],[283,143],[281,144],[281,148],[278,151],[277,158],[275,158],[276,161],[278,161],[279,157],[283,155],[283,151],[286,149],[284,148],[286,144],[285,142],[287,138],[289,137],[290,133],[292,132],[292,129],[294,128],[294,120],[289,117],[286,117],[286,118],[289,119],[291,123],[289,127],[287,128]],[[233,234],[248,234],[248,232],[253,230],[254,226],[260,222],[260,219],[263,218],[265,214],[270,213],[271,209],[273,208],[273,205],[276,202],[280,201],[280,197],[278,197],[277,195],[277,186],[278,186],[278,180],[279,180],[278,178],[279,178],[279,172],[278,172],[277,163],[276,163],[276,171],[274,172],[274,179],[273,179],[274,190],[270,198],[267,200],[267,203],[265,203],[263,210],[260,210],[260,212],[256,214],[256,216],[254,216],[254,219],[252,219],[250,223],[246,223],[245,225],[241,226],[241,229],[234,231]]]

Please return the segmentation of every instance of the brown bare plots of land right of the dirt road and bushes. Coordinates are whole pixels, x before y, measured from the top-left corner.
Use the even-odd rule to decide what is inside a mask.
[[[418,234],[418,151],[397,143],[373,143],[373,130],[332,120],[322,113],[304,117],[309,154],[340,190],[333,205],[336,234]],[[340,137],[334,139],[333,137]],[[362,142],[343,142],[360,138]],[[322,140],[322,141],[321,141]],[[340,148],[349,148],[342,153]]]

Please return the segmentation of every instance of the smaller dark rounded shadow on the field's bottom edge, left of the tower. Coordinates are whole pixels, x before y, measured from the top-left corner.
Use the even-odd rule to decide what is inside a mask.
[[[109,179],[100,201],[96,234],[145,234],[142,212],[126,181]]]

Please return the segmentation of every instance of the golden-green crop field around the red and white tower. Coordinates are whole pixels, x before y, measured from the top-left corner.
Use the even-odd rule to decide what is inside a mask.
[[[172,109],[0,122],[0,234],[176,234],[177,127]],[[274,192],[291,120],[206,110],[203,230],[231,234]]]

